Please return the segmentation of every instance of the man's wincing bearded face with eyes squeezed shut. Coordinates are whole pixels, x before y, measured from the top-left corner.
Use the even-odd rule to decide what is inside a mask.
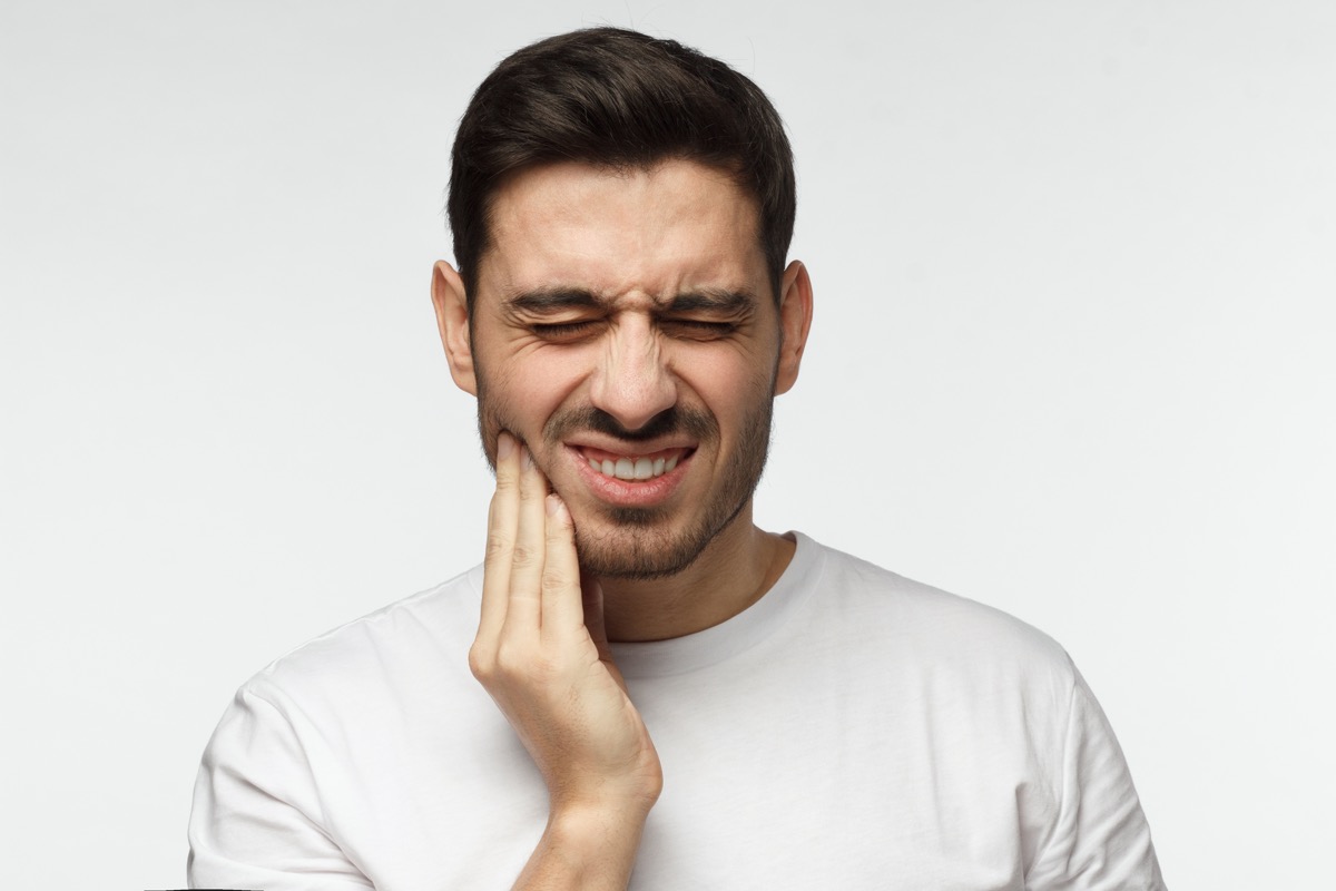
[[[526,443],[585,569],[676,573],[749,524],[783,341],[772,289],[756,204],[717,170],[562,163],[498,190],[468,331],[484,448],[502,429]]]

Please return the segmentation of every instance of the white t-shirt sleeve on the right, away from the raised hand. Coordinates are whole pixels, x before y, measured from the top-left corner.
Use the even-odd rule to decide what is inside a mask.
[[[1029,891],[1165,891],[1132,773],[1075,668],[1057,771],[1058,810]]]

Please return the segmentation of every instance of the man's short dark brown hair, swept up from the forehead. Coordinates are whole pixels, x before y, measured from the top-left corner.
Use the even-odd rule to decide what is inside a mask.
[[[623,28],[573,31],[506,57],[473,94],[452,155],[446,210],[469,302],[492,198],[509,175],[566,160],[645,170],[673,158],[727,171],[756,200],[778,301],[794,236],[794,152],[755,83],[676,40]]]

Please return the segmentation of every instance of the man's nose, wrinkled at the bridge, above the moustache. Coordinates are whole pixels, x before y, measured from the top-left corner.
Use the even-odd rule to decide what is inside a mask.
[[[623,315],[605,339],[589,398],[628,430],[677,402],[677,383],[653,323],[641,314]]]

